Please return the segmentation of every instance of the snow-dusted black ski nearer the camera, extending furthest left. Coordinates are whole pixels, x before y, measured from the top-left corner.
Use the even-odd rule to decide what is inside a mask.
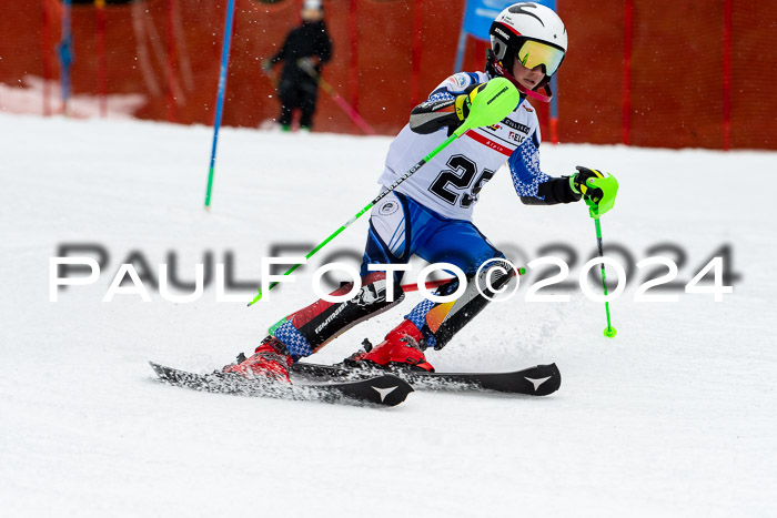
[[[272,379],[245,378],[236,374],[194,374],[149,362],[157,376],[170,385],[195,390],[324,403],[374,404],[396,406],[413,387],[391,373],[320,384],[294,384]]]

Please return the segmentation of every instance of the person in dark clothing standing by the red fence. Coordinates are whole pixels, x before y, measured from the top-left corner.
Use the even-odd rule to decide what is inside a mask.
[[[289,32],[281,50],[263,63],[265,71],[283,61],[278,97],[281,100],[279,123],[289,131],[292,111],[301,111],[300,128],[309,130],[313,125],[313,114],[319,95],[317,77],[324,63],[332,59],[332,41],[326,33],[324,12],[321,4],[306,1],[302,9],[302,26]]]

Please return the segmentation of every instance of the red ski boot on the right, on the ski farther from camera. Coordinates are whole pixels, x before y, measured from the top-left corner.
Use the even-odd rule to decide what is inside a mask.
[[[426,356],[421,349],[420,344],[423,339],[424,337],[415,324],[404,319],[402,324],[389,332],[383,342],[367,352],[357,353],[350,360],[355,360],[356,364],[365,362],[381,367],[400,367],[433,373],[434,367],[426,362]]]

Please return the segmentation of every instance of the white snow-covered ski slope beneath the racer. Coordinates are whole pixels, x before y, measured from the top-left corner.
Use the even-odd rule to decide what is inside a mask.
[[[153,379],[149,359],[208,372],[251,351],[312,302],[312,268],[251,308],[218,303],[212,284],[193,303],[153,288],[149,303],[101,301],[133,252],[154,276],[172,252],[188,281],[208,252],[220,263],[231,252],[235,276],[256,280],[272,244],[315,244],[375,195],[390,139],[224,129],[206,213],[208,128],[3,114],[0,132],[3,516],[777,514],[774,153],[543,146],[547,172],[586,164],[617,175],[605,244],[635,261],[675,244],[687,255],[684,283],[729,244],[741,275],[734,294],[635,303],[639,272],[612,304],[618,335],[607,339],[602,304],[579,291],[568,303],[526,303],[529,276],[428,358],[440,370],[556,362],[558,393],[417,392],[374,409]],[[523,261],[568,244],[576,280],[595,250],[585,207],[524,206],[506,171],[491,183],[478,227]],[[366,224],[322,256],[360,251]],[[99,243],[109,264],[95,284],[49,302],[49,261],[67,243]],[[418,301],[408,298],[315,359],[380,339]]]

